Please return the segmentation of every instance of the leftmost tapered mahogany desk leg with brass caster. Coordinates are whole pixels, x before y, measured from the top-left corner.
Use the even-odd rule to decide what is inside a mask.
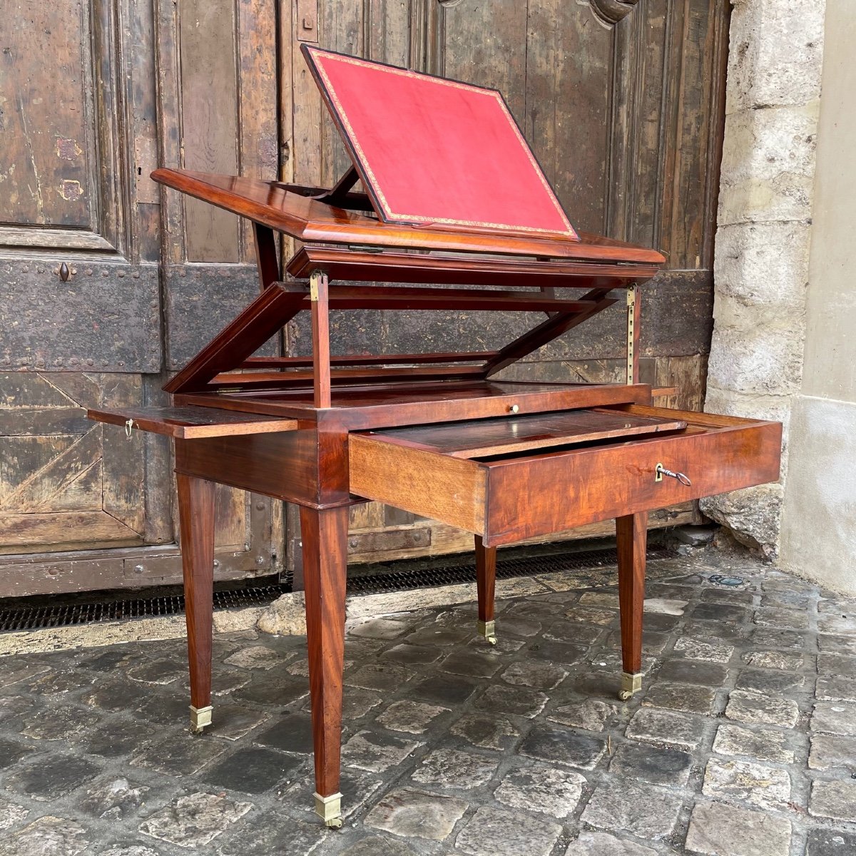
[[[211,725],[214,483],[181,474],[176,478],[190,663],[190,730],[200,734],[206,725]]]

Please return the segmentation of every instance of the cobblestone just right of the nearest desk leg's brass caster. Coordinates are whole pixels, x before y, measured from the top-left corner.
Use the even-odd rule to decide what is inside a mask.
[[[469,805],[464,800],[430,794],[414,788],[398,788],[378,800],[366,815],[365,825],[385,829],[402,838],[448,838]]]

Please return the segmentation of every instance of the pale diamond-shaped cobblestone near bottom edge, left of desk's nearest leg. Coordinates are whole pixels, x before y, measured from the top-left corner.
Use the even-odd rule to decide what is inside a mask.
[[[251,808],[252,803],[215,794],[187,794],[153,812],[140,825],[140,832],[179,847],[205,847]]]

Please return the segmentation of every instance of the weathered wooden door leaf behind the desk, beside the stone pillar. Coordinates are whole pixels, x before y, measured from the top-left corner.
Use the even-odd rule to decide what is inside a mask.
[[[726,0],[294,0],[283,15],[284,177],[330,186],[348,159],[300,56],[300,41],[500,89],[574,226],[662,249],[643,292],[642,380],[679,385],[665,402],[700,409],[712,326],[712,239],[722,140]],[[290,27],[290,42],[288,30]],[[289,110],[290,108],[290,110]],[[490,350],[514,313],[349,312],[334,353]],[[309,332],[288,325],[287,348]],[[622,382],[621,306],[508,370],[510,377]],[[652,525],[695,520],[692,506]],[[289,520],[289,543],[299,537]],[[588,526],[567,537],[611,533]],[[448,526],[369,503],[354,508],[350,561],[471,550]],[[289,550],[299,556],[299,550]]]

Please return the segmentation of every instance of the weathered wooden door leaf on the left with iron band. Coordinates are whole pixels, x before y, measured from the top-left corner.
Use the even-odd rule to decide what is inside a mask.
[[[0,597],[175,582],[168,443],[84,411],[161,401],[252,293],[236,221],[148,176],[158,162],[276,176],[273,7],[21,0],[7,17]],[[270,573],[270,502],[223,489],[217,517],[217,575]]]

